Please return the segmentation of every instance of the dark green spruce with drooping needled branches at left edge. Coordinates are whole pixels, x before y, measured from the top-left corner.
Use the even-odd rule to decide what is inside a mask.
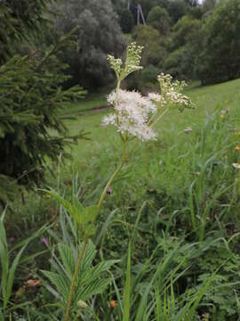
[[[56,53],[70,45],[72,32],[44,52],[40,48],[33,50],[30,44],[30,40],[35,39],[35,31],[44,23],[42,14],[48,3],[1,3],[0,25],[4,26],[4,29],[0,28],[3,53],[0,64],[2,203],[8,201],[18,185],[33,187],[41,184],[45,161],[57,160],[64,145],[79,137],[68,135],[60,110],[73,99],[81,98],[84,91],[78,86],[62,89],[61,84],[68,78],[65,74],[67,65],[56,57]],[[29,20],[28,14],[31,15]],[[28,55],[14,54],[19,52],[23,39],[26,44],[28,40]]]

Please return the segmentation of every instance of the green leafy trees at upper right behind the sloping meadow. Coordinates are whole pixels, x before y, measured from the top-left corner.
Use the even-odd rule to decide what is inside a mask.
[[[219,4],[205,0],[202,5],[188,0],[139,0],[132,2],[132,16],[137,3],[142,6],[147,26],[136,26],[132,19],[129,31],[137,43],[145,46],[142,83],[153,82],[161,71],[176,78],[200,79],[202,84],[239,77],[238,0]],[[123,23],[124,13],[118,12]]]

